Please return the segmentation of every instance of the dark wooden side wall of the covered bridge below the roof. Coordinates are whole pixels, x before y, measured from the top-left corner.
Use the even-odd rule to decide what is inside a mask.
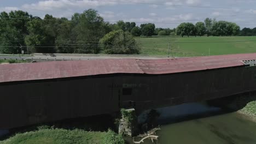
[[[170,75],[117,74],[0,86],[0,128],[178,105],[256,90],[256,67]],[[126,89],[123,95],[123,89]]]

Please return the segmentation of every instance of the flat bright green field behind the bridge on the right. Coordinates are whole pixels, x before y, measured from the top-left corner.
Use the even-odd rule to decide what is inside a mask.
[[[142,55],[208,56],[256,52],[256,37],[136,38]]]

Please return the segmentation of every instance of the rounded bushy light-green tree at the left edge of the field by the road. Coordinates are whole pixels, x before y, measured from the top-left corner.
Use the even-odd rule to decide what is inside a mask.
[[[139,47],[130,32],[110,32],[100,40],[101,48],[108,54],[139,54]]]

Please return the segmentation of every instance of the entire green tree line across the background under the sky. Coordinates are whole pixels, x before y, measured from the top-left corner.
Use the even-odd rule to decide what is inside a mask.
[[[109,53],[138,54],[133,37],[152,35],[226,36],[256,35],[256,28],[207,18],[204,22],[181,23],[177,28],[156,28],[154,23],[104,21],[94,9],[75,13],[71,20],[46,14],[44,19],[17,10],[0,14],[0,53]],[[26,49],[28,47],[28,51]]]

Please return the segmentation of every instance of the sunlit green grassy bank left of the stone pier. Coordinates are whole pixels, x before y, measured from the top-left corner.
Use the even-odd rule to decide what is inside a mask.
[[[51,129],[40,128],[36,131],[16,134],[7,140],[0,141],[0,144],[59,144],[59,143],[102,143],[102,144],[123,144],[123,138],[109,130],[107,132],[85,131],[80,129]]]

